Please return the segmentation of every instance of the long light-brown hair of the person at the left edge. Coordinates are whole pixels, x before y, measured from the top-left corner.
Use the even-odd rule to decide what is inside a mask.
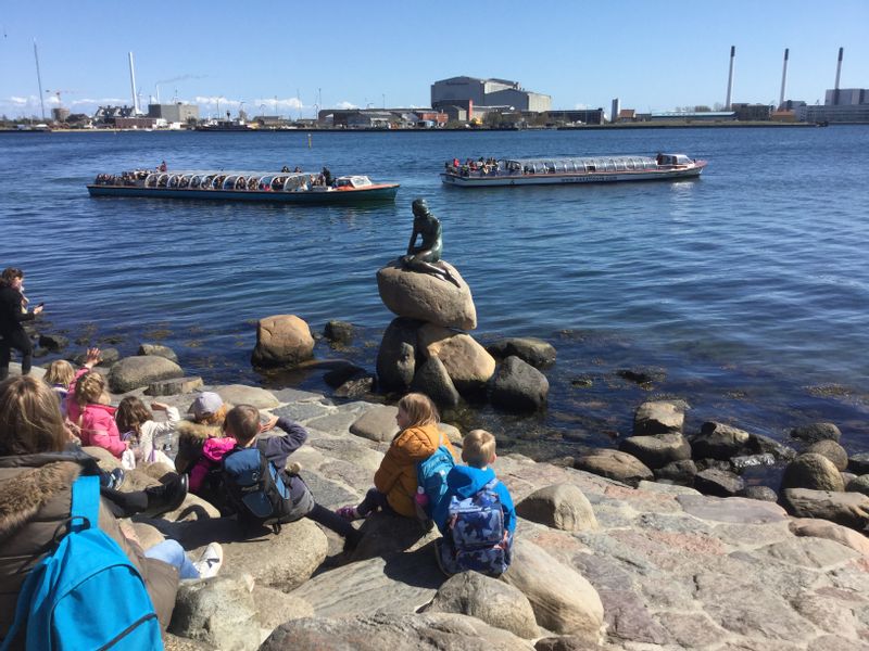
[[[58,397],[29,375],[0,384],[0,456],[59,452],[67,442]]]

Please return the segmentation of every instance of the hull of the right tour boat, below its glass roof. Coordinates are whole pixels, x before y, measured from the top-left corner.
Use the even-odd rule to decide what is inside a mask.
[[[599,171],[588,174],[509,174],[499,176],[461,176],[441,173],[446,186],[456,188],[492,188],[503,186],[562,186],[572,183],[610,183],[619,181],[671,181],[696,178],[705,164],[687,169],[655,169],[638,171]]]

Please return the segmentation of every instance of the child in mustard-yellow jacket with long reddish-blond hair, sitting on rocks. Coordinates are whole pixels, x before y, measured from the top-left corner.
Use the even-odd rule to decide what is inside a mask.
[[[345,520],[361,520],[378,509],[405,518],[416,518],[414,498],[417,489],[416,464],[428,459],[443,445],[455,450],[438,429],[438,409],[428,396],[411,393],[399,400],[395,422],[399,433],[392,438],[370,488],[356,507],[341,507],[337,513]]]

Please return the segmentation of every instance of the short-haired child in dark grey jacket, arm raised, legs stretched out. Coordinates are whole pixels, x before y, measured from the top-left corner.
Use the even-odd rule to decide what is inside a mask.
[[[284,430],[287,435],[257,438],[257,434],[268,432],[275,426]],[[238,442],[236,450],[224,457],[224,467],[226,467],[227,459],[231,457],[235,451],[255,446],[268,462],[278,469],[279,476],[284,480],[289,490],[288,499],[291,502],[291,505],[287,505],[290,507],[290,510],[285,522],[294,522],[301,518],[308,518],[343,536],[349,549],[354,548],[358,544],[362,538],[360,532],[349,522],[314,501],[314,497],[302,481],[302,477],[298,474],[299,467],[293,464],[293,470],[297,472],[287,472],[285,470],[287,458],[299,449],[307,439],[307,431],[302,425],[276,416],[261,424],[260,411],[255,407],[251,405],[238,405],[226,414],[224,434]],[[226,476],[226,472],[224,476]],[[232,494],[231,486],[225,486],[225,488],[228,494]],[[239,514],[243,520],[245,518],[243,511],[239,509],[239,505],[236,505],[236,507],[240,511]]]

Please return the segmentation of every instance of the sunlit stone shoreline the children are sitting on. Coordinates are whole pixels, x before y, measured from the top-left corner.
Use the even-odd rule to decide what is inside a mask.
[[[135,359],[117,362],[110,378],[149,366],[128,361]],[[160,399],[185,411],[197,391],[209,388],[302,423],[308,443],[290,460],[302,464],[327,508],[362,497],[395,431],[394,407],[339,404],[290,388],[203,386],[173,373],[147,382],[140,375],[131,382],[141,384],[124,393],[171,393]],[[641,408],[634,437],[641,441],[632,451],[659,461],[684,456],[673,431],[654,432],[672,427],[678,414],[678,405]],[[804,434],[819,432],[832,430]],[[728,455],[763,443],[720,425],[701,434],[700,449],[721,446]],[[643,444],[653,444],[653,452]],[[696,448],[697,439],[690,445]],[[104,467],[116,463],[93,451]],[[627,451],[608,456],[617,468],[628,465],[618,462]],[[801,458],[829,470],[815,456]],[[562,464],[499,457],[495,470],[519,514],[516,558],[500,580],[467,574],[448,580],[431,549],[437,532],[382,515],[365,521],[363,542],[349,556],[339,538],[306,520],[277,536],[244,539],[194,496],[173,513],[136,518],[130,526],[144,546],[164,535],[188,550],[213,539],[224,545],[221,575],[179,591],[169,649],[869,650],[869,540],[859,533],[869,522],[869,497],[831,489],[837,484],[794,489],[789,508],[809,515],[794,518],[771,501],[648,481],[655,473],[618,481],[572,467],[582,463],[587,457]],[[154,484],[171,470],[130,471],[122,489]],[[805,507],[815,503],[808,498],[839,496],[853,500],[834,511],[851,528]]]

